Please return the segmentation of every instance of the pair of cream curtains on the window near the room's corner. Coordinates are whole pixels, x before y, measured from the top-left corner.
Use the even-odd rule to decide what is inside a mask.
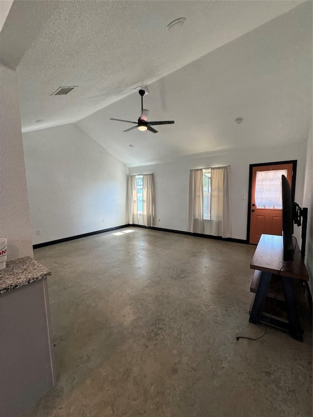
[[[142,176],[142,213],[138,214],[136,176],[128,177],[128,218],[130,224],[153,225],[154,218],[154,186],[153,174]]]

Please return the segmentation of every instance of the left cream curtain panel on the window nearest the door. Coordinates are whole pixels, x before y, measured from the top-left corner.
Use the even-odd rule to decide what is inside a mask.
[[[188,232],[203,233],[202,169],[190,170],[188,199]]]

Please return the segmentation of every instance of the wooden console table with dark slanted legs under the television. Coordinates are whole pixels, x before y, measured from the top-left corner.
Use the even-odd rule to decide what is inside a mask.
[[[250,268],[255,269],[251,291],[255,292],[249,322],[268,325],[287,330],[291,337],[303,341],[302,329],[294,290],[294,280],[308,281],[309,274],[304,264],[298,245],[295,243],[294,260],[283,259],[283,237],[262,235],[257,245]],[[278,285],[271,289],[271,283],[282,281],[282,290]],[[264,306],[267,298],[285,303],[287,320],[273,314],[265,314]]]

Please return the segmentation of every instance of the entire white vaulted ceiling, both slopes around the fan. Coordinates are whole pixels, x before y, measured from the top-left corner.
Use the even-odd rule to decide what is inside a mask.
[[[0,56],[23,132],[76,122],[130,166],[300,143],[312,119],[312,1],[15,0]],[[77,88],[51,96],[61,86]],[[174,125],[110,120],[137,120],[137,86],[149,118]]]

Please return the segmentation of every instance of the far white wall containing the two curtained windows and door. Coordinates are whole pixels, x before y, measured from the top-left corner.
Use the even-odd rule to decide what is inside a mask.
[[[130,168],[130,174],[154,173],[156,217],[154,226],[187,230],[189,170],[230,165],[232,238],[246,240],[249,164],[297,159],[295,200],[302,201],[306,144],[263,150],[216,154],[205,158]],[[209,221],[205,233],[210,234]],[[295,230],[298,238],[298,231]]]

